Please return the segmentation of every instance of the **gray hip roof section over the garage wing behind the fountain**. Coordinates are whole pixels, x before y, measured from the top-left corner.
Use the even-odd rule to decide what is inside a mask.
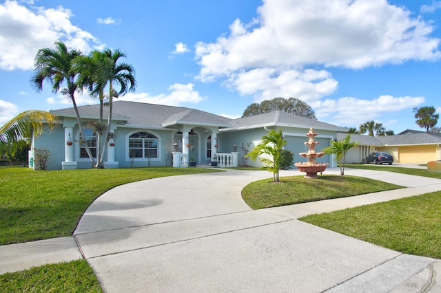
[[[347,132],[348,129],[345,127],[338,127],[333,124],[320,122],[311,118],[306,118],[303,116],[298,116],[293,113],[287,113],[285,111],[272,111],[270,113],[264,113],[260,115],[249,116],[245,118],[238,118],[233,120],[232,127],[224,129],[224,131],[231,131],[236,129],[247,129],[250,127],[263,127],[271,125],[279,125],[285,127],[300,127],[300,128],[310,128],[322,129],[322,130],[332,130]]]

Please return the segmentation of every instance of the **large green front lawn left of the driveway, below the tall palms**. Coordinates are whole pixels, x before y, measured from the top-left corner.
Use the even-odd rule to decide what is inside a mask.
[[[216,172],[200,168],[32,171],[0,169],[0,245],[70,236],[90,204],[115,186],[172,175]]]

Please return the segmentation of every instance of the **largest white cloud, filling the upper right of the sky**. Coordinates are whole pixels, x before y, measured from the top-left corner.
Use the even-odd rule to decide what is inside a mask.
[[[440,57],[433,27],[386,0],[265,0],[258,22],[234,21],[216,43],[196,43],[203,81],[254,68],[364,68]]]

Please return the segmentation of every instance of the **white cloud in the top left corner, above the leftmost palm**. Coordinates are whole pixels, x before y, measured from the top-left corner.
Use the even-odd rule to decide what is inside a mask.
[[[102,47],[96,37],[70,22],[70,10],[23,6],[7,0],[0,4],[0,69],[32,69],[37,51],[61,39],[71,49]]]

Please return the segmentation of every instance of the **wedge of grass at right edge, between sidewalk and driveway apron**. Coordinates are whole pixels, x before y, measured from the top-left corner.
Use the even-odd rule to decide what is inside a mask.
[[[406,254],[441,259],[441,191],[300,218]]]

